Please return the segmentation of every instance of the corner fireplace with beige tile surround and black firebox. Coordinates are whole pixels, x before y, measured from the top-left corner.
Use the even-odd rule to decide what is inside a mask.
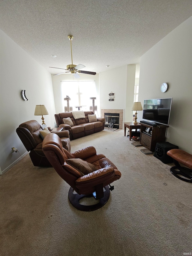
[[[110,116],[108,118],[115,118],[117,119],[117,117],[119,117],[119,129],[123,129],[123,112],[124,110],[123,109],[101,109],[101,117],[104,117],[105,118],[105,114],[110,114],[110,115],[107,115],[107,116]],[[118,115],[117,115],[118,114]],[[109,119],[108,119],[109,120]],[[117,122],[117,121],[116,121]],[[106,123],[106,121],[105,121]],[[115,124],[116,125],[116,124]],[[105,126],[108,126],[108,124],[106,123]],[[113,126],[114,127],[114,126]]]

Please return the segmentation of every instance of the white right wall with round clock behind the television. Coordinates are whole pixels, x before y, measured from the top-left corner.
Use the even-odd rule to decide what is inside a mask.
[[[162,83],[169,86],[165,93]],[[192,153],[192,17],[141,57],[139,101],[153,98],[173,98],[167,141]]]

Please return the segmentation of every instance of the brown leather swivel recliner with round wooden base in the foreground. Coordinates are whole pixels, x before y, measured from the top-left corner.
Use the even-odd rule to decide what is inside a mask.
[[[46,135],[43,152],[56,172],[71,186],[68,193],[70,203],[82,211],[101,208],[109,199],[110,190],[114,188],[108,185],[121,177],[117,167],[103,154],[97,155],[93,146],[69,153],[62,148],[56,134]],[[87,166],[93,170],[87,170]],[[81,198],[91,196],[100,199],[100,202],[94,205],[79,203]]]

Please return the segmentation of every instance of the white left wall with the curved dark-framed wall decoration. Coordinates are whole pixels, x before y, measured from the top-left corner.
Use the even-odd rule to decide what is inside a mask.
[[[46,106],[49,115],[44,121],[53,127],[55,105],[51,74],[1,30],[0,73],[0,168],[4,173],[18,161],[19,153],[27,152],[16,128],[33,119],[42,123],[41,116],[34,116],[39,104]],[[21,90],[26,90],[28,101],[22,100]],[[13,146],[19,153],[12,152]]]

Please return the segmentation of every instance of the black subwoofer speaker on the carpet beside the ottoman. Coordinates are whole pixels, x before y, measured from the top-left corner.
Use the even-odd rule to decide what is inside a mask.
[[[169,142],[157,143],[155,146],[154,156],[161,160],[164,164],[172,163],[173,158],[167,155],[167,151],[171,149],[179,149],[179,147]]]

